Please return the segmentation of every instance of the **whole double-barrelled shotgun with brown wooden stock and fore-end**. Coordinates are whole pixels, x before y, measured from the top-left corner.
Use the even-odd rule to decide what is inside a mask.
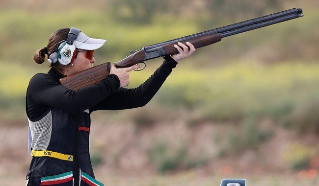
[[[284,21],[292,20],[303,16],[301,8],[292,8],[282,12],[269,14],[263,17],[243,21],[240,23],[230,24],[227,26],[207,30],[204,32],[192,34],[189,36],[177,38],[174,40],[162,42],[159,44],[145,46],[139,50],[131,51],[131,55],[122,59],[119,62],[114,62],[117,68],[131,67],[135,64],[142,63],[143,61],[153,58],[174,55],[179,53],[173,46],[178,42],[186,44],[191,43],[195,48],[212,45],[221,41],[221,38],[246,32],[249,30],[261,28],[271,24],[281,23]],[[60,79],[60,83],[71,90],[78,90],[80,88],[94,85],[109,75],[111,68],[110,62],[95,66],[88,70],[83,70],[78,74],[67,76]]]

